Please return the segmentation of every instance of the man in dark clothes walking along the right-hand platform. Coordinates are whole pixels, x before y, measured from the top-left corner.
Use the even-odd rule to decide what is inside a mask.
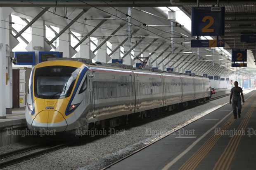
[[[243,90],[241,87],[238,87],[238,82],[234,82],[235,87],[231,88],[231,93],[230,93],[230,100],[229,103],[232,103],[232,108],[233,108],[233,114],[234,114],[234,119],[237,119],[237,114],[238,117],[240,118],[240,114],[241,114],[241,109],[242,109],[242,105],[241,105],[241,96],[242,96],[242,102],[244,102],[244,95],[243,95]],[[240,95],[241,93],[241,95]],[[233,96],[233,99],[232,99]],[[232,99],[232,102],[231,102]]]

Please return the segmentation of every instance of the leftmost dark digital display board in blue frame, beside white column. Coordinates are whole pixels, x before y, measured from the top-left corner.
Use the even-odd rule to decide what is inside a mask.
[[[17,58],[17,65],[35,65],[35,51],[18,51],[14,52]]]

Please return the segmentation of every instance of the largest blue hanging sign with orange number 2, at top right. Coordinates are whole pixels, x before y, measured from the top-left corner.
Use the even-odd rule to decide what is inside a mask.
[[[192,7],[191,35],[224,35],[225,7]]]

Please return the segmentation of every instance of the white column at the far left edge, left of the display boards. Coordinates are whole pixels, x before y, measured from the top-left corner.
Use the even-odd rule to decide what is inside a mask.
[[[9,45],[6,38],[9,36],[9,15],[12,11],[12,8],[0,7],[0,119],[6,118],[6,45]]]

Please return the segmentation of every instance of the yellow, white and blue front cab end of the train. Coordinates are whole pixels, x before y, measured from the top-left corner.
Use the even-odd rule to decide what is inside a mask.
[[[25,111],[28,128],[61,132],[86,125],[87,70],[85,64],[77,61],[36,65],[29,79]]]

